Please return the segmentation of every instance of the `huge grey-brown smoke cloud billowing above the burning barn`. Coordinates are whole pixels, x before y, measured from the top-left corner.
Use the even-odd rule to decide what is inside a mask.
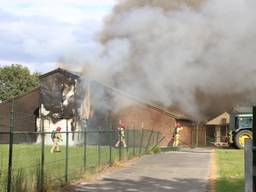
[[[202,120],[256,101],[255,10],[255,0],[118,1],[98,46],[64,63]]]

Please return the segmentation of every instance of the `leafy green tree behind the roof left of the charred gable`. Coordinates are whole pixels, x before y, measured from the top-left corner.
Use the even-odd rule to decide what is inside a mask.
[[[39,74],[13,64],[0,67],[0,101],[25,93],[39,86]]]

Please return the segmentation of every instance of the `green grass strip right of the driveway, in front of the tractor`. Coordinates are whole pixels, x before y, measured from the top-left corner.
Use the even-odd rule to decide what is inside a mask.
[[[217,149],[216,192],[244,191],[244,151]]]

